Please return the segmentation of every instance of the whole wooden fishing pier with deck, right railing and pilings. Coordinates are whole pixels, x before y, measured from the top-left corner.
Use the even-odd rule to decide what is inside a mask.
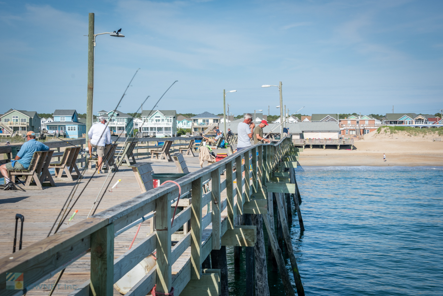
[[[177,142],[172,146],[181,148],[186,148],[193,140],[169,139]],[[122,149],[126,147],[123,140],[120,142]],[[150,163],[154,173],[177,172],[174,162],[145,157],[151,154],[149,149],[158,149],[158,146],[144,143],[158,139],[131,140],[137,142],[134,151],[140,151],[133,154],[138,157],[138,164]],[[69,140],[71,144],[82,146],[84,141]],[[49,146],[57,149],[53,157],[58,158],[63,157],[63,147],[68,144],[54,142]],[[143,152],[146,150],[148,152]],[[10,155],[11,147],[0,147],[0,153]],[[300,228],[304,230],[294,172],[299,155],[291,140],[284,138],[277,143],[242,149],[203,168],[200,168],[198,157],[186,157],[190,173],[176,180],[180,188],[166,183],[142,194],[143,182],[136,179],[133,169],[120,166],[112,182],[118,179],[121,182],[113,190],[104,192],[100,212],[89,218],[87,215],[95,198],[103,194],[101,187],[107,174],[97,175],[85,168],[72,195],[77,197],[82,192],[72,206],[72,210],[78,209],[78,214],[69,223],[66,220],[60,231],[49,237],[51,226],[76,181],[59,181],[56,187],[38,191],[1,191],[0,294],[48,295],[51,284],[63,270],[54,295],[117,296],[120,293],[114,284],[156,252],[156,267],[144,275],[127,296],[147,295],[154,286],[158,295],[172,291],[175,296],[228,295],[225,247],[234,246],[246,248],[247,295],[254,295],[254,289],[255,295],[269,295],[264,223],[269,236],[268,248],[277,262],[285,294],[304,295],[288,226],[288,219],[292,219],[290,198],[293,198]],[[83,158],[76,162],[86,165]],[[208,190],[205,190],[206,183]],[[183,197],[179,202],[182,210],[172,217],[179,191]],[[276,234],[274,204],[281,235]],[[11,253],[17,213],[25,216],[23,249]],[[128,249],[139,225],[133,247]],[[283,241],[296,291],[283,259]],[[255,269],[250,265],[254,260]],[[23,273],[23,290],[6,289],[4,275],[11,272]]]

